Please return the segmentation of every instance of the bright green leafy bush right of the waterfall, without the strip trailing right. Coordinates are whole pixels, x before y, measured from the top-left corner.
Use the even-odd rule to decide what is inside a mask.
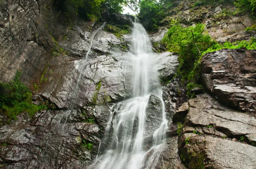
[[[200,67],[195,68],[195,63],[199,60],[202,51],[206,51],[217,42],[204,32],[203,24],[198,23],[195,27],[183,28],[176,20],[172,20],[170,26],[163,43],[169,51],[179,54],[178,71],[183,77],[183,82],[187,80],[197,82]]]

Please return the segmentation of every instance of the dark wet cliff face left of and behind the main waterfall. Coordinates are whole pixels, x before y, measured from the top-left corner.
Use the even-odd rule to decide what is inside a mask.
[[[33,102],[48,101],[56,108],[38,112],[32,119],[22,113],[18,121],[0,127],[0,166],[88,166],[100,142],[100,153],[108,148],[111,118],[132,96],[133,63],[128,52],[131,35],[117,38],[103,31],[109,23],[85,23],[74,18],[69,25],[51,0],[2,0],[0,11],[0,81],[9,82],[21,70],[21,81],[32,90]],[[113,14],[110,23],[114,22],[131,24],[120,14]],[[154,42],[160,41],[163,33],[152,35]],[[158,75],[172,78],[177,55],[158,53],[154,60]],[[157,120],[162,120],[157,116],[162,106],[160,99],[152,95],[148,103],[150,122],[158,124]],[[148,131],[152,130],[148,126]],[[103,137],[106,131],[109,134]],[[177,150],[177,144],[172,145],[166,147]],[[179,161],[175,153],[172,155]]]

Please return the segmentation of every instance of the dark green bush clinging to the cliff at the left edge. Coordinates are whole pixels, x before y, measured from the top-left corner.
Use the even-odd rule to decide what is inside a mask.
[[[17,119],[22,112],[29,113],[32,117],[47,106],[32,104],[32,93],[29,88],[20,82],[21,71],[17,71],[15,79],[9,83],[0,82],[0,111],[5,113],[9,120]]]

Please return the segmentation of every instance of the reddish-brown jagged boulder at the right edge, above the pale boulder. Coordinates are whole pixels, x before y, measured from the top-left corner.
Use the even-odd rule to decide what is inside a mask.
[[[256,51],[222,49],[203,56],[204,86],[230,107],[256,113]]]

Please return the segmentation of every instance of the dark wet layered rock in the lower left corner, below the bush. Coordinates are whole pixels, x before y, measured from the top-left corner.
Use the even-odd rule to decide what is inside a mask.
[[[42,111],[0,128],[1,167],[82,169],[95,157],[103,131],[94,110]]]

